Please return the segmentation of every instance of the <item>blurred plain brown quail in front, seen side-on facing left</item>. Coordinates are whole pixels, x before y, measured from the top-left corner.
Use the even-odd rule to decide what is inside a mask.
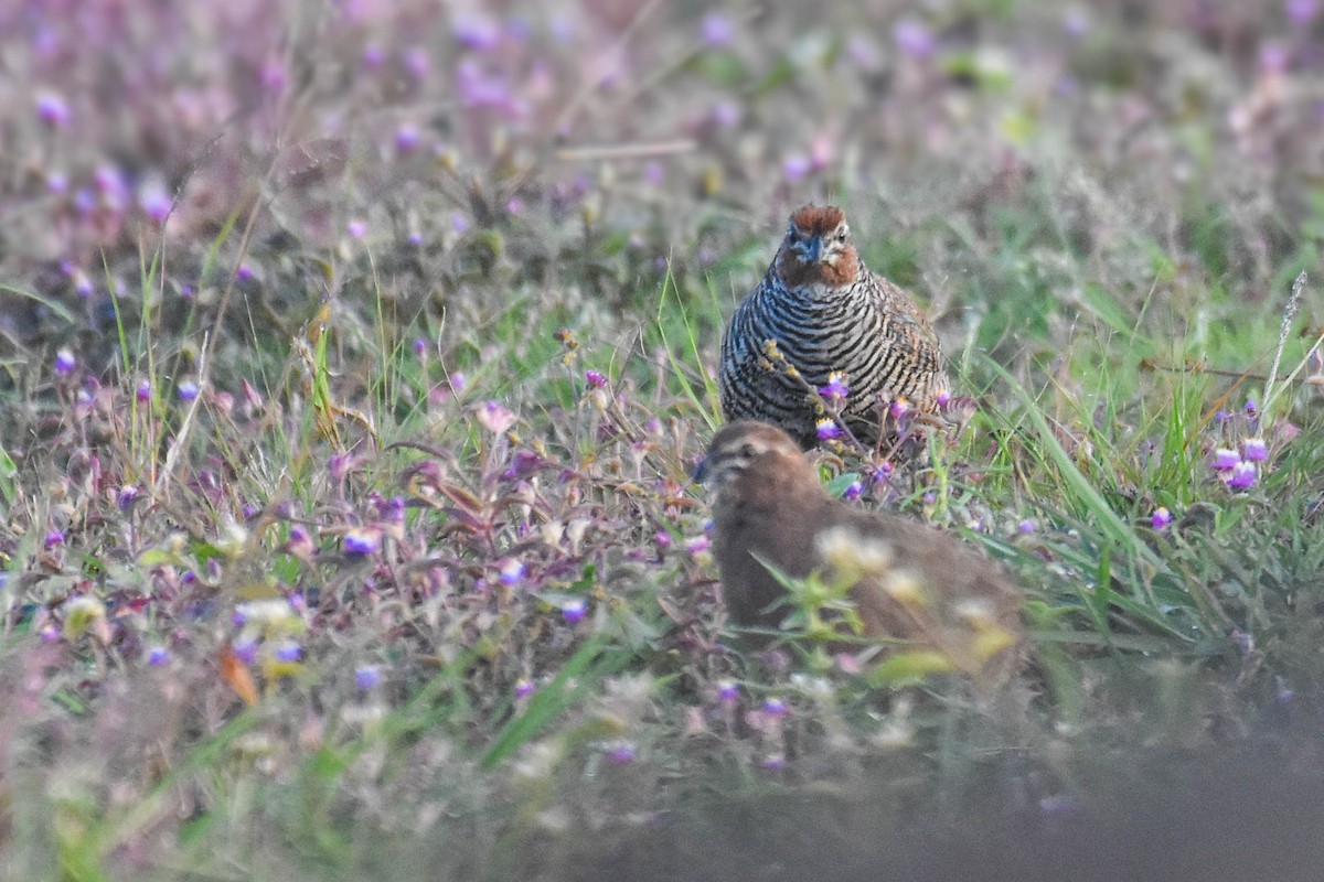
[[[980,680],[1010,673],[1022,592],[972,547],[831,499],[796,442],[768,423],[720,428],[695,477],[716,491],[712,550],[735,623],[777,627],[788,615],[767,565],[798,579],[818,573],[850,583],[865,636],[936,651]]]

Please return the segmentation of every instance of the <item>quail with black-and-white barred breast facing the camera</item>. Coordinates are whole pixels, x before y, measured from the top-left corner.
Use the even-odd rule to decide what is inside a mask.
[[[915,301],[865,266],[841,209],[806,205],[727,325],[722,410],[781,426],[809,448],[822,417],[813,390],[833,374],[849,385],[841,419],[866,444],[878,443],[890,402],[931,413],[948,390],[941,346]]]

